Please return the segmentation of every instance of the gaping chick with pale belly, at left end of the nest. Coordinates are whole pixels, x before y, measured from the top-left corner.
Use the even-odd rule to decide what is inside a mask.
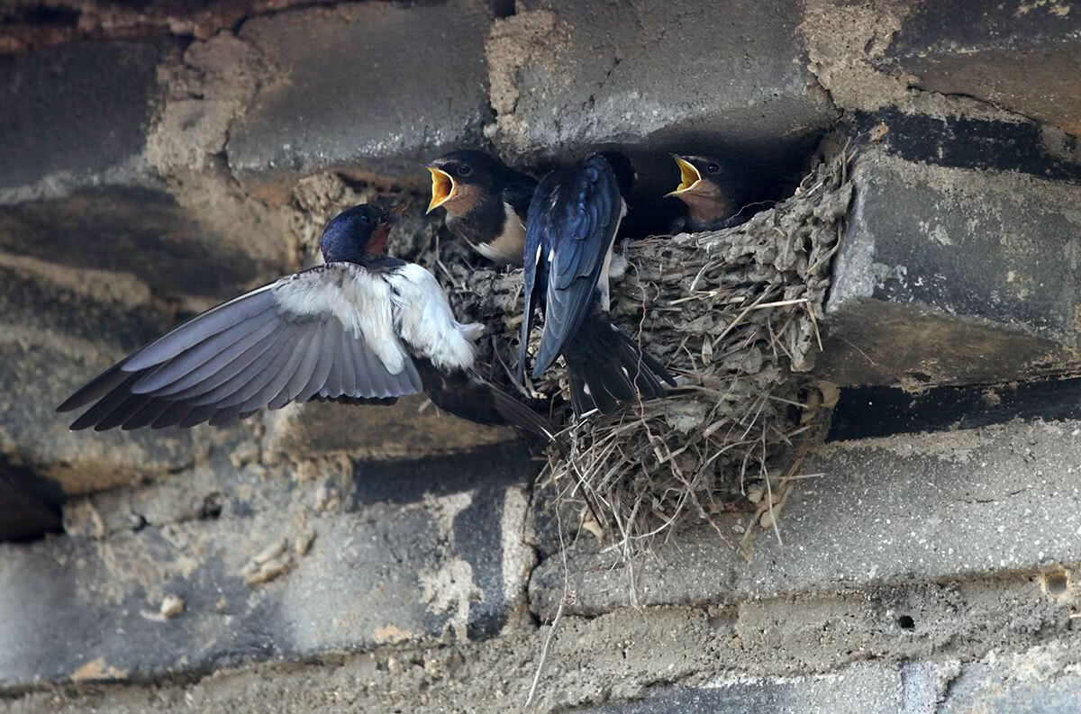
[[[537,183],[483,151],[452,151],[428,164],[428,212],[446,208],[446,227],[498,265],[521,265],[525,214]]]

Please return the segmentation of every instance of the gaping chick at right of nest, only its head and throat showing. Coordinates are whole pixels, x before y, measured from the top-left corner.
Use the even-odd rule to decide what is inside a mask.
[[[746,172],[732,162],[709,157],[672,154],[680,183],[673,196],[686,204],[688,215],[679,229],[692,232],[719,230],[745,223],[749,187]]]

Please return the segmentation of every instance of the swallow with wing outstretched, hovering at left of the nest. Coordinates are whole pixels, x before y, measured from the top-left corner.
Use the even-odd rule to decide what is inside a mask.
[[[481,423],[547,435],[546,422],[473,368],[483,325],[455,320],[424,268],[386,255],[389,218],[372,205],[323,231],[324,265],[192,318],[124,358],[59,407],[72,430],[221,425],[290,402],[393,403],[424,392]]]

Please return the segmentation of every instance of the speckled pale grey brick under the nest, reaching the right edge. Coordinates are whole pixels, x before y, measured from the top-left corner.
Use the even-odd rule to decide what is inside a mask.
[[[762,530],[748,563],[704,528],[636,561],[635,593],[642,605],[733,603],[1070,567],[1081,563],[1078,463],[1077,421],[838,442],[805,463],[805,473],[823,475],[801,481],[784,507],[784,545]],[[759,527],[747,521],[718,523],[736,541],[736,522]],[[631,571],[596,550],[582,535],[568,551],[571,611],[631,602]],[[531,605],[550,614],[562,593],[556,554],[534,571]]]

